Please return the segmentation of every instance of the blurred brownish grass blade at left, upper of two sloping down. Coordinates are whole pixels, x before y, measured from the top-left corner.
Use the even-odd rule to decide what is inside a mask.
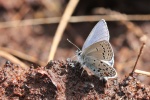
[[[0,47],[0,50],[6,51],[6,52],[8,52],[8,53],[10,53],[10,54],[12,54],[12,55],[14,55],[16,57],[19,57],[19,58],[21,58],[23,60],[26,60],[26,61],[29,61],[29,62],[33,62],[35,64],[39,64],[41,66],[45,66],[46,65],[46,63],[39,61],[35,57],[26,55],[26,54],[24,54],[22,52],[19,52],[19,51],[13,50],[13,49]]]

